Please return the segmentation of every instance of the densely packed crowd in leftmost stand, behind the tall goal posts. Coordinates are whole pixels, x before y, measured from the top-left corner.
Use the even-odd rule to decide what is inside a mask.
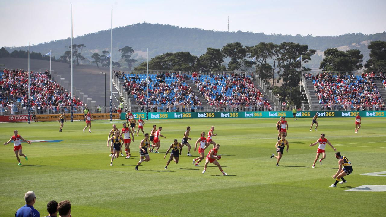
[[[3,70],[0,79],[0,112],[20,113],[28,106],[28,71],[23,69]],[[15,103],[17,103],[17,106]],[[74,105],[75,112],[83,111],[85,105],[80,98],[71,100],[71,92],[52,80],[48,71],[30,72],[30,106],[38,114],[68,112]]]

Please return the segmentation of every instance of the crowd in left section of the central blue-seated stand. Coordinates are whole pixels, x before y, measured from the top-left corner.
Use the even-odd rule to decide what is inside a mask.
[[[118,76],[119,78],[119,76]],[[186,85],[188,75],[178,73],[159,73],[148,77],[149,111],[164,109],[191,110],[202,105],[192,88]],[[146,109],[146,75],[124,76],[125,91],[133,95],[137,105]]]

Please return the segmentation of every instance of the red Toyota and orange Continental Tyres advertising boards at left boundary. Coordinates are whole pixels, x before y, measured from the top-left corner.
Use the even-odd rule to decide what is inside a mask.
[[[50,115],[36,115],[38,121],[49,121],[49,120],[59,120],[61,114],[50,114]],[[65,114],[66,120],[71,120],[70,114]],[[95,113],[91,114],[92,119],[94,120],[106,120],[110,119],[110,113]],[[84,114],[73,114],[74,120],[83,120],[85,118]],[[119,114],[113,113],[113,119],[119,120]],[[27,122],[28,115],[0,115],[0,122]]]

